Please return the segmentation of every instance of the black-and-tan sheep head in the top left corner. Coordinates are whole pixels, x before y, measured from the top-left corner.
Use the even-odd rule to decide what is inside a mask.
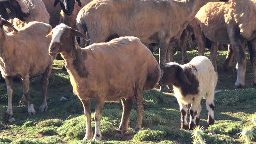
[[[14,19],[21,21],[30,16],[30,10],[22,0],[0,0],[0,15],[5,20]]]

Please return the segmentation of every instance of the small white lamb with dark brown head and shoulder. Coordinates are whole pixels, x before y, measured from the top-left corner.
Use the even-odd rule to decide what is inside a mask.
[[[175,62],[165,65],[162,81],[164,84],[173,84],[174,95],[181,110],[181,129],[192,130],[199,124],[203,95],[206,97],[208,110],[207,123],[214,124],[213,100],[217,79],[217,73],[211,61],[205,56],[196,56],[184,65]],[[189,127],[187,123],[188,104],[191,104]]]

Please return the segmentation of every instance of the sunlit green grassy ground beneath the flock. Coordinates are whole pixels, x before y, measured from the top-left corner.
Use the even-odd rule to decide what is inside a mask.
[[[206,51],[209,57],[209,52]],[[248,53],[246,53],[248,56]],[[197,50],[188,51],[189,59],[197,56]],[[252,67],[247,59],[246,86],[243,89],[234,88],[236,71],[222,70],[222,63],[226,51],[218,52],[217,90],[222,90],[215,95],[215,124],[207,127],[207,111],[205,99],[201,112],[200,126],[203,126],[203,138],[207,144],[242,144],[239,138],[241,128],[246,124],[252,124],[252,115],[256,112],[256,89],[250,85],[252,79]],[[176,62],[181,63],[181,52],[174,55]],[[133,104],[129,129],[122,139],[115,138],[115,132],[121,121],[121,103],[108,102],[104,106],[101,120],[101,131],[105,141],[83,141],[85,136],[85,116],[82,103],[72,94],[69,75],[62,70],[63,60],[55,60],[53,72],[49,79],[47,103],[49,110],[39,112],[41,102],[41,85],[38,76],[31,79],[30,96],[35,105],[36,115],[28,116],[27,107],[19,106],[22,95],[22,84],[14,84],[13,105],[15,122],[10,123],[5,114],[7,110],[7,89],[5,84],[0,84],[0,144],[191,144],[192,131],[180,130],[181,118],[179,105],[171,91],[160,92],[159,89],[143,92],[144,113],[143,130],[134,134],[136,123],[135,104]],[[232,64],[235,68],[235,63]],[[65,97],[68,101],[59,101]],[[95,110],[95,102],[92,101],[91,111]],[[94,120],[92,113],[92,130]],[[215,131],[210,136],[208,132]],[[254,143],[256,140],[253,140]]]

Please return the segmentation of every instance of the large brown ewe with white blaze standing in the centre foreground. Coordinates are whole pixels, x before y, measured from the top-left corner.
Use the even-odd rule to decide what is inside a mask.
[[[108,43],[80,48],[75,36],[87,39],[82,33],[60,24],[47,35],[52,37],[51,56],[60,53],[70,75],[73,92],[84,106],[86,134],[84,139],[101,140],[100,119],[105,101],[119,101],[123,105],[121,124],[116,137],[128,129],[133,99],[136,99],[135,132],[141,130],[142,90],[154,88],[160,79],[160,67],[138,38],[120,37]],[[90,99],[95,99],[95,134],[92,134]]]

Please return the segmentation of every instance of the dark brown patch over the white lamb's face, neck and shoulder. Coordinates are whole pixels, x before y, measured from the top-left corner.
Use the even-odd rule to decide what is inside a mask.
[[[199,82],[196,76],[192,73],[191,69],[193,67],[185,67],[184,71],[179,65],[171,65],[171,67],[164,67],[164,73],[162,77],[163,84],[171,83],[177,88],[181,88],[181,95],[186,97],[186,95],[198,94]],[[187,76],[187,79],[191,85],[184,83],[182,81],[182,72]]]

